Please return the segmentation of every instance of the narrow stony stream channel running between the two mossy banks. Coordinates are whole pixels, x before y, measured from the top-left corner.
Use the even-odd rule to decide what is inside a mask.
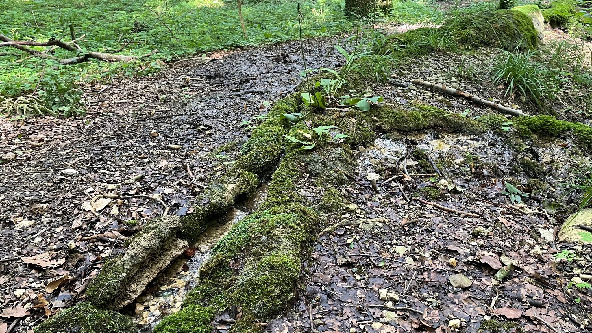
[[[160,319],[181,309],[186,293],[197,284],[201,264],[211,257],[214,245],[236,222],[259,208],[265,200],[267,187],[268,183],[263,182],[247,202],[234,205],[226,215],[211,222],[210,227],[191,244],[188,251],[193,250],[193,256],[181,256],[173,261],[132,303],[135,307],[134,324],[140,332],[152,332]]]

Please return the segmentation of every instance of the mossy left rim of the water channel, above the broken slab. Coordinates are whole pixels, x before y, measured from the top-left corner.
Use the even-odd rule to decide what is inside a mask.
[[[205,227],[208,216],[223,214],[237,197],[247,198],[257,189],[260,179],[278,163],[284,147],[287,125],[279,115],[298,112],[299,94],[289,95],[277,101],[262,124],[253,130],[249,140],[240,148],[233,167],[220,179],[214,180],[204,195],[195,199],[195,211],[182,219],[179,235],[192,239]]]

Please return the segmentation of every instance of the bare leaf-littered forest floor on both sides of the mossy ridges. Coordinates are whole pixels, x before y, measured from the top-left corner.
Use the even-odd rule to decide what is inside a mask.
[[[546,38],[565,36],[549,29]],[[334,45],[343,38],[304,40],[308,68],[342,66]],[[471,117],[488,111],[462,98],[393,84],[419,78],[530,111],[532,105],[482,79],[498,53],[480,49],[417,57],[399,64],[390,82],[369,89],[394,104],[422,101],[459,114],[469,111]],[[472,75],[459,72],[466,65],[475,69]],[[168,214],[192,212],[190,199],[233,164],[238,147],[271,105],[300,83],[303,69],[298,42],[220,52],[171,64],[150,77],[88,89],[83,95],[88,116],[82,119],[2,119],[0,152],[15,158],[0,169],[0,316],[5,319],[0,332],[10,323],[16,323],[12,332],[26,332],[78,303],[102,263],[123,253],[124,240],[162,215],[163,205]],[[589,121],[581,114],[565,117]],[[590,289],[566,287],[574,269],[589,274],[589,248],[555,241],[577,203],[561,186],[573,176],[570,168],[582,163],[583,156],[572,154],[576,146],[571,138],[535,138],[517,150],[503,131],[427,130],[378,134],[373,143],[356,147],[355,180],[340,188],[346,205],[325,216],[319,230],[343,219],[359,223],[319,234],[303,267],[303,292],[265,330],[592,329]],[[431,167],[418,163],[411,147],[445,160],[443,177],[434,178]],[[412,176],[428,175],[401,182],[383,178],[373,189],[366,176],[397,169],[395,161],[405,156]],[[538,161],[539,167],[525,160]],[[317,203],[323,190],[311,174],[299,181],[298,192]],[[535,193],[523,205],[510,204],[501,193],[506,180],[530,184],[523,191]],[[544,194],[537,194],[536,186],[543,186]],[[120,196],[99,198],[112,190]],[[178,310],[215,242],[237,215],[249,214],[265,197],[265,182],[259,192],[223,216],[225,227],[205,232],[192,245],[192,258],[182,258],[140,296],[128,311],[140,329],[150,331],[163,315]],[[408,201],[407,194],[429,202]],[[546,212],[544,203],[558,198],[564,207]],[[558,253],[568,256],[558,260]],[[501,283],[493,279],[509,263],[516,270]],[[469,277],[471,287],[451,286],[450,277],[459,273]],[[229,328],[215,326],[218,332]]]

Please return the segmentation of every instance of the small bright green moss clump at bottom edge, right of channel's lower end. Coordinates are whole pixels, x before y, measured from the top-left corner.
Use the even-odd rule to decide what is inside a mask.
[[[156,325],[154,333],[210,333],[216,310],[200,305],[189,305],[166,316]]]

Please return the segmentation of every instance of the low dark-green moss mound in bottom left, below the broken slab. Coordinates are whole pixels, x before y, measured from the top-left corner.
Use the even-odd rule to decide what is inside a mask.
[[[39,324],[35,333],[136,333],[131,318],[115,311],[95,308],[91,302],[79,303]]]

